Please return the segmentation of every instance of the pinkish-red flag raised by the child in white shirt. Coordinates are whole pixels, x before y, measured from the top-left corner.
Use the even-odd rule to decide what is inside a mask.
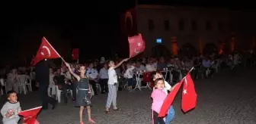
[[[145,50],[145,42],[140,33],[138,36],[128,37],[128,42],[130,45],[130,57],[134,57]]]

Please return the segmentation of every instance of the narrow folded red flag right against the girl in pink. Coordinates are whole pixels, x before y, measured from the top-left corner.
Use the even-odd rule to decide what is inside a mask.
[[[178,84],[174,85],[174,88],[171,90],[171,92],[165,98],[165,101],[162,104],[161,110],[158,113],[158,117],[166,116],[166,113],[168,112],[169,107],[171,106],[172,102],[174,101],[174,98],[177,95],[179,89],[181,88],[181,85],[182,85],[182,82],[178,82]]]

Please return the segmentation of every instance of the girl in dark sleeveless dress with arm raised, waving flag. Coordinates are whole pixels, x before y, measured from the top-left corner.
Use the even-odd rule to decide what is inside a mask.
[[[72,76],[75,76],[75,79],[78,80],[78,94],[76,95],[76,104],[78,107],[80,107],[80,124],[84,124],[82,121],[82,114],[85,107],[87,108],[88,122],[95,123],[94,120],[91,119],[91,88],[89,85],[88,77],[85,76],[85,66],[80,65],[78,69],[78,72],[80,73],[79,76],[72,71],[72,68],[68,63],[66,63],[66,67],[69,68],[69,72],[72,74]]]

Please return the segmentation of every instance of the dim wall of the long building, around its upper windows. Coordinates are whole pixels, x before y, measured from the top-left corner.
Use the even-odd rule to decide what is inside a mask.
[[[241,11],[230,11],[226,8],[197,8],[197,7],[170,7],[158,5],[138,5],[137,23],[138,33],[142,33],[146,40],[146,52],[150,53],[158,43],[156,39],[162,39],[162,45],[171,50],[171,37],[176,36],[178,48],[190,43],[199,49],[199,39],[203,45],[225,42],[230,45],[232,37],[235,37],[235,48],[247,48],[242,41],[252,40],[252,34],[238,32],[238,28],[245,28],[244,21],[238,20]],[[243,17],[245,18],[245,17]],[[154,29],[149,29],[149,20],[152,20]],[[169,22],[169,29],[165,29],[165,20]],[[184,29],[180,29],[179,23],[184,21]],[[197,29],[193,29],[192,22],[197,23]],[[206,22],[210,22],[210,29],[206,29]],[[222,24],[220,24],[222,23]],[[247,22],[248,23],[248,22]],[[222,26],[221,26],[222,25]],[[239,27],[240,26],[240,27]],[[247,34],[247,35],[243,35]]]

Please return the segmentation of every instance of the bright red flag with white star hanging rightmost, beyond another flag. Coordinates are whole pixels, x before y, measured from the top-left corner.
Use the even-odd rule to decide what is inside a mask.
[[[184,78],[184,85],[181,98],[181,109],[184,113],[193,109],[197,105],[197,93],[194,88],[194,81],[190,76],[190,73],[187,73],[187,76]]]

